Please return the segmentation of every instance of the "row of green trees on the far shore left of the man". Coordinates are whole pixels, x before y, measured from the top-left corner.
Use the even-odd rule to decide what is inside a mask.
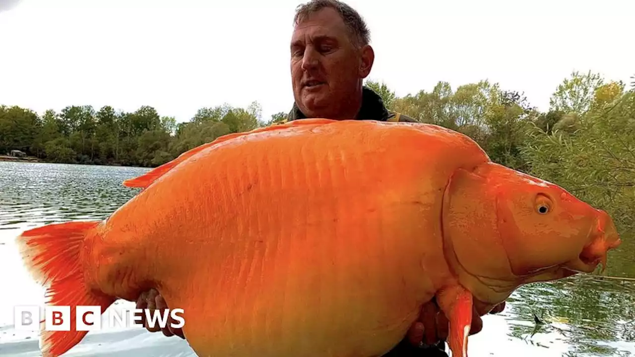
[[[158,166],[221,135],[263,126],[258,102],[201,108],[185,123],[153,107],[135,112],[70,105],[38,116],[0,106],[0,154],[21,150],[44,161],[94,165]]]

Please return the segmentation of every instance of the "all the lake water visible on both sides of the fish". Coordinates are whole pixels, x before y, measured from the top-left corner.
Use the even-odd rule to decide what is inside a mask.
[[[22,267],[15,237],[50,222],[107,217],[137,193],[121,182],[147,170],[0,162],[0,356],[39,356],[37,335],[12,325],[14,306],[43,301],[43,290]],[[483,330],[469,340],[470,356],[635,356],[635,280],[621,279],[635,278],[635,237],[622,239],[604,274],[613,278],[577,276],[523,286],[503,313],[483,318]],[[156,351],[191,353],[178,337],[130,328],[91,332],[69,356],[156,356]]]

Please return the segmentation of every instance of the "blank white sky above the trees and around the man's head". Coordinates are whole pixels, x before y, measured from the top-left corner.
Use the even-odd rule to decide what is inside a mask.
[[[0,0],[0,104],[66,105],[189,120],[257,100],[293,103],[289,41],[298,0]],[[230,6],[227,3],[234,5]],[[350,0],[375,48],[370,79],[397,95],[490,79],[546,110],[572,71],[630,83],[635,1]]]

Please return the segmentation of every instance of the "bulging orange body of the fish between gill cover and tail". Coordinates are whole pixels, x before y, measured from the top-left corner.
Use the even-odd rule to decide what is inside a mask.
[[[432,135],[361,129],[232,140],[166,173],[113,217],[142,236],[126,283],[184,309],[199,356],[389,351],[446,274],[454,164]]]

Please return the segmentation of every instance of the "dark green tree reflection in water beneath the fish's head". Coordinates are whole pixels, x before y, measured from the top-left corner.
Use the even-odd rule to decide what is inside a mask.
[[[509,302],[512,337],[549,334],[570,357],[635,355],[635,281],[576,276],[523,286]]]

